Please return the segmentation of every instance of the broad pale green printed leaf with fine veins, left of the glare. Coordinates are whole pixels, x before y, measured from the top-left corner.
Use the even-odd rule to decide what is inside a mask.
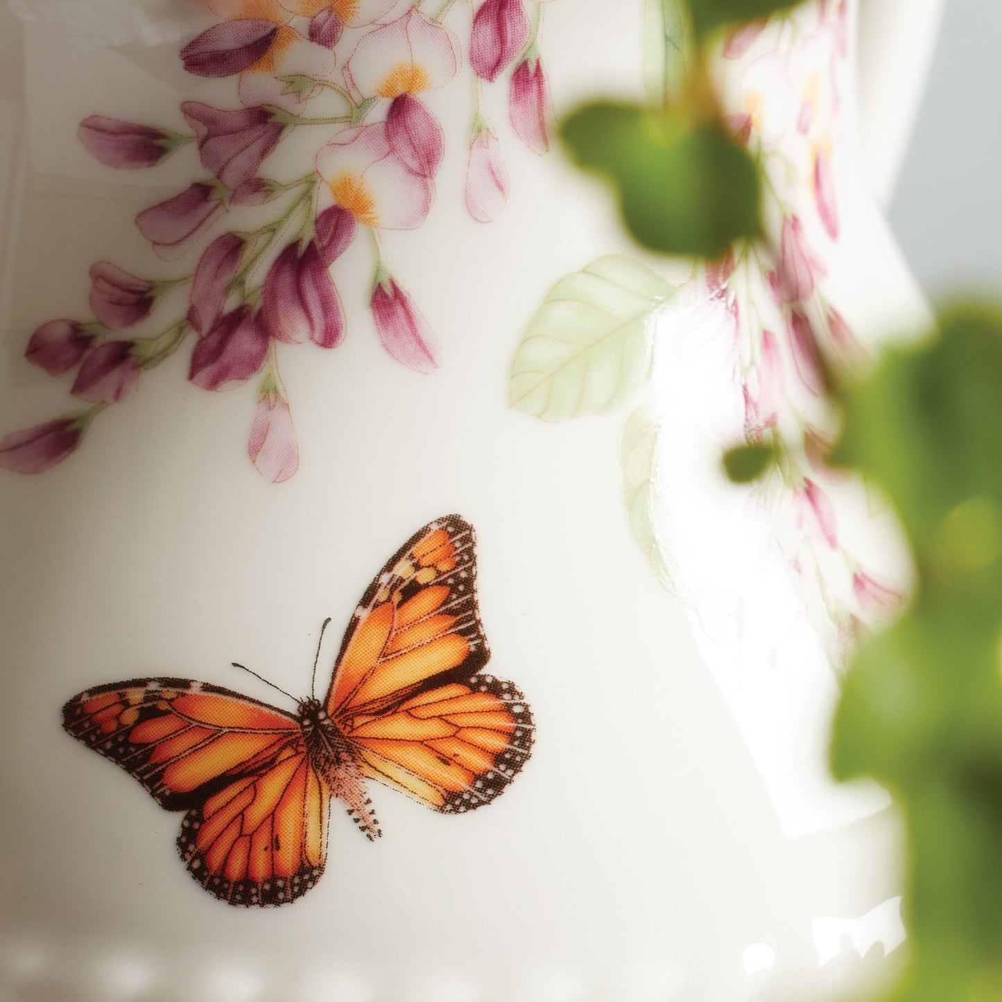
[[[511,406],[544,421],[600,414],[648,378],[651,319],[675,287],[633,258],[600,258],[561,279],[512,363]]]

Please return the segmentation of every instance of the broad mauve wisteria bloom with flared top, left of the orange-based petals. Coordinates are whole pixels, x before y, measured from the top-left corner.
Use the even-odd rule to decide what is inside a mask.
[[[268,108],[223,111],[200,101],[183,101],[181,112],[198,140],[202,166],[228,188],[249,180],[278,145],[285,125]]]

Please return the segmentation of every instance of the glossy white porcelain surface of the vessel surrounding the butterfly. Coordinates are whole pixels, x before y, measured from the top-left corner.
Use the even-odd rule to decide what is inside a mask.
[[[783,247],[725,276],[645,258],[596,182],[545,151],[548,95],[561,109],[642,94],[640,4],[613,17],[597,0],[527,3],[542,62],[530,52],[520,70],[513,52],[493,82],[464,4],[358,5],[333,49],[310,39],[308,15],[324,5],[282,6],[256,18],[254,44],[298,33],[273,53],[274,72],[258,54],[225,78],[178,61],[223,23],[221,7],[11,0],[0,14],[0,432],[98,408],[82,441],[52,447],[65,457],[31,453],[61,460],[51,468],[0,471],[0,831],[15,861],[0,897],[0,992],[738,1002],[825,999],[868,968],[885,973],[883,954],[904,939],[896,822],[883,791],[834,785],[826,744],[839,658],[860,622],[907,593],[907,555],[879,499],[813,472],[806,454],[765,495],[727,487],[718,467],[745,434],[831,434],[800,312],[863,355],[926,316],[862,180],[850,0],[810,4],[720,55],[735,129],[779,164],[771,224]],[[273,15],[270,34],[260,22]],[[198,54],[188,49],[191,66]],[[513,91],[513,72],[531,79]],[[297,75],[335,83],[350,115],[372,118],[307,124],[345,117],[344,105],[331,88],[290,94]],[[242,152],[206,166],[193,140],[148,169],[115,169],[123,147],[92,117],[162,138],[198,134],[213,108],[263,105],[296,124],[272,143],[241,119],[264,150],[246,176]],[[157,158],[148,143],[130,148]],[[290,187],[292,200],[258,201],[250,185],[183,240],[164,235],[176,205],[143,217],[227,169],[231,190],[309,175],[310,197]],[[365,197],[346,174],[368,178]],[[268,229],[293,201],[302,215]],[[336,240],[321,217],[333,206],[354,238],[328,261]],[[141,285],[191,275],[233,232],[257,232],[265,249],[224,309],[260,308],[270,327],[206,334],[189,313],[215,310],[204,283]],[[282,273],[274,263],[300,239]],[[633,309],[646,346],[637,378],[613,400],[599,360],[577,404],[550,413],[569,391],[523,392],[527,332],[562,277],[601,261],[573,280],[571,301],[587,312],[594,283],[599,296],[618,290],[602,302]],[[101,262],[140,287],[106,266],[88,278]],[[53,378],[24,353],[59,319],[75,319],[85,344]],[[78,382],[95,334],[149,337],[143,360],[163,357],[137,368],[130,349]],[[74,742],[60,708],[104,683],[171,676],[295,713],[231,662],[306,696],[330,616],[323,688],[374,575],[453,512],[476,533],[483,670],[531,704],[531,758],[465,817],[372,783],[382,838],[362,838],[336,805],[309,894],[281,909],[215,900],[178,860],[181,816]]]

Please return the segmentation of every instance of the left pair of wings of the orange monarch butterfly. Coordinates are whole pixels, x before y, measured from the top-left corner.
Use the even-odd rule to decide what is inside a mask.
[[[186,812],[178,850],[215,897],[284,904],[319,879],[330,796],[295,716],[206,683],[138,678],[74,696],[63,726]]]

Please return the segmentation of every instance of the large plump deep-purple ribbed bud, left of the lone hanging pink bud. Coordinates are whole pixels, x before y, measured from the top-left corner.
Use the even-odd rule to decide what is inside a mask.
[[[345,311],[315,242],[302,257],[294,242],[276,258],[265,277],[262,318],[277,341],[300,345],[310,340],[321,348],[341,344]]]

